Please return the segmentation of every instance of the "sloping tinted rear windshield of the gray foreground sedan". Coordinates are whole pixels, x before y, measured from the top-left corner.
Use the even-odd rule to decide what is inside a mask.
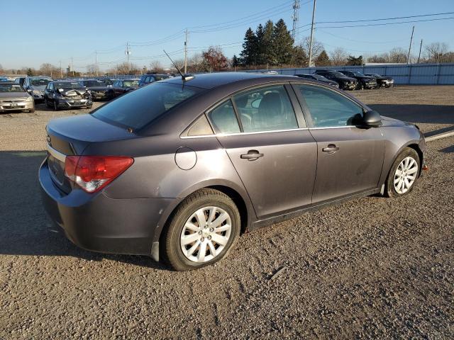
[[[152,83],[101,106],[92,115],[107,123],[140,129],[199,91],[192,86]]]

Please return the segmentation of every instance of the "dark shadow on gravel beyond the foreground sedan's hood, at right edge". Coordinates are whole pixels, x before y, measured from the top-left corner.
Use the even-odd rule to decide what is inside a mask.
[[[411,123],[454,124],[454,106],[416,104],[370,104],[373,110],[389,118]]]

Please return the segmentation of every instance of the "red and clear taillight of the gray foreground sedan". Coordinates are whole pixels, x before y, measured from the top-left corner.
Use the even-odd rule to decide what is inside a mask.
[[[123,156],[67,156],[65,176],[87,193],[101,190],[120,176],[134,159]]]

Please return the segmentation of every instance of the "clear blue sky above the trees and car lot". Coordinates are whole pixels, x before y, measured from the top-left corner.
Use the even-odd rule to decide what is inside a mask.
[[[311,22],[312,1],[306,2],[301,0],[299,26]],[[209,45],[221,45],[225,55],[231,57],[234,53],[239,54],[240,42],[249,26],[255,30],[267,19],[283,18],[291,29],[292,11],[292,1],[284,0],[2,1],[0,64],[4,68],[38,68],[40,64],[50,62],[58,67],[61,60],[65,67],[73,57],[74,68],[84,71],[87,64],[94,63],[94,51],[98,50],[100,67],[106,69],[107,62],[121,62],[125,57],[126,42],[131,42],[131,62],[142,67],[160,60],[167,66],[167,58],[159,56],[165,49],[177,51],[172,54],[175,59],[183,57],[179,50],[183,47],[185,28],[189,28],[189,55]],[[318,0],[316,21],[355,21],[441,12],[454,12],[454,0]],[[454,17],[454,14],[438,16],[443,17]],[[398,21],[418,19],[425,18]],[[222,26],[222,23],[226,24]],[[343,25],[351,24],[355,23]],[[424,45],[447,42],[454,50],[454,19],[390,26],[318,28],[316,40],[328,51],[344,47],[353,55],[370,55],[392,47],[408,49],[413,25],[415,50],[419,49],[421,39]],[[300,29],[297,41],[309,35],[309,30],[304,31],[307,28],[309,26]]]

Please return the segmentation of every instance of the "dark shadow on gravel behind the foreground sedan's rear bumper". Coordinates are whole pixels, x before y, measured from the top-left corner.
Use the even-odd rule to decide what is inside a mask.
[[[72,244],[52,225],[40,197],[38,169],[45,152],[0,152],[0,255],[74,256],[88,261],[110,259],[169,270],[148,256],[98,254]]]

